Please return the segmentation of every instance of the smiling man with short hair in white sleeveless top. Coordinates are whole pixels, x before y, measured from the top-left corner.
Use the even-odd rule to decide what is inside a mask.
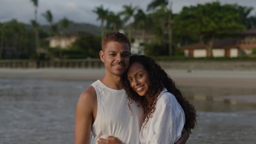
[[[129,67],[131,45],[119,32],[107,34],[100,51],[105,75],[86,89],[79,97],[75,118],[75,143],[129,143],[139,144],[139,130],[143,110],[132,103],[127,105],[123,74]],[[185,143],[188,132],[179,140]]]

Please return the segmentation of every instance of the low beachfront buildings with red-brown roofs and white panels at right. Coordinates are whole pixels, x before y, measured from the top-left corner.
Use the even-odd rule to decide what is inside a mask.
[[[215,40],[212,54],[213,57],[238,57],[251,55],[253,49],[256,49],[256,29],[249,29],[239,33],[236,39]],[[210,56],[203,43],[181,46],[177,50],[184,50],[184,56],[187,57]]]

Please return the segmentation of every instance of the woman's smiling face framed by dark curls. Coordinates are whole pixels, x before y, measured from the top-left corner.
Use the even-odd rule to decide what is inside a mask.
[[[148,71],[142,64],[135,62],[127,70],[127,79],[130,86],[138,95],[145,96],[150,85]]]

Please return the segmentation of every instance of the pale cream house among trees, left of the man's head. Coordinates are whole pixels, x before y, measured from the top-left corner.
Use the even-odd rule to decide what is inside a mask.
[[[50,47],[61,47],[62,49],[68,49],[78,39],[79,35],[89,34],[85,32],[73,32],[61,35],[54,35],[53,37],[46,38],[49,40]]]

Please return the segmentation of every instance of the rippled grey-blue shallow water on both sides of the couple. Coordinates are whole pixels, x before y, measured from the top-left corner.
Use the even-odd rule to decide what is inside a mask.
[[[75,105],[91,83],[0,79],[0,143],[74,143]],[[191,103],[198,117],[187,143],[255,143],[255,108]]]

